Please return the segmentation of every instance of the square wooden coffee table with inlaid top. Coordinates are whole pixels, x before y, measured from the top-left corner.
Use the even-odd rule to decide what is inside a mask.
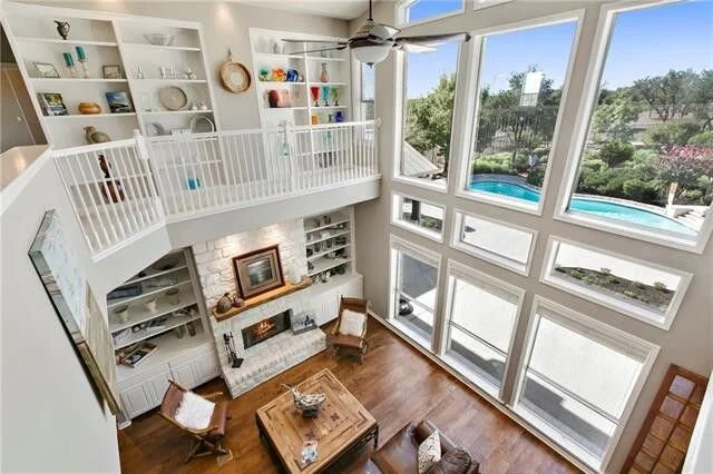
[[[286,472],[320,472],[342,454],[372,440],[377,447],[377,421],[329,369],[302,382],[297,389],[326,394],[326,402],[316,418],[302,417],[294,407],[291,392],[285,392],[255,413],[261,437],[270,443]],[[302,445],[305,441],[318,442],[319,458],[303,466]]]

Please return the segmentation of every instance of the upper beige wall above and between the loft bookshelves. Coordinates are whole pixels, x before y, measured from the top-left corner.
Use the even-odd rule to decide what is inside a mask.
[[[30,1],[52,7],[102,10],[146,17],[199,21],[205,36],[218,119],[225,130],[260,127],[255,81],[244,93],[231,93],[218,80],[219,67],[231,48],[235,59],[252,71],[250,28],[344,37],[348,23],[313,14],[271,10],[235,2],[214,1]]]

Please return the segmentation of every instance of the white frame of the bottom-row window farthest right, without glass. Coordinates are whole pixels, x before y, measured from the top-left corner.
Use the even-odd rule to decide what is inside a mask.
[[[537,417],[527,408],[522,408],[519,404],[520,396],[522,394],[522,385],[525,383],[526,365],[530,359],[533,345],[535,343],[535,335],[537,333],[537,326],[540,319],[540,316],[538,315],[539,312],[546,313],[547,318],[563,325],[570,330],[583,334],[586,337],[589,337],[593,340],[596,340],[608,347],[613,347],[616,350],[634,354],[642,361],[642,369],[638,374],[638,377],[636,378],[636,382],[634,382],[632,386],[629,397],[626,401],[624,409],[622,411],[622,416],[619,417],[614,433],[612,433],[609,442],[604,450],[604,456],[600,461],[596,460],[589,453],[577,446],[576,443],[549,426],[546,421]],[[648,378],[648,374],[651,373],[654,362],[658,356],[661,347],[647,340],[633,336],[628,333],[625,333],[624,330],[617,329],[613,326],[600,323],[599,320],[585,316],[582,313],[577,313],[561,305],[558,305],[557,303],[554,303],[549,299],[545,299],[539,295],[535,295],[535,298],[533,300],[533,308],[529,315],[527,334],[524,340],[525,352],[519,361],[515,393],[512,396],[512,402],[511,404],[508,404],[508,407],[524,421],[526,421],[531,427],[543,433],[546,437],[559,445],[559,447],[561,447],[567,453],[572,454],[593,470],[597,472],[608,472],[608,464],[612,461],[614,450],[618,444],[624,427],[626,426],[632,411],[636,405],[636,401],[638,399],[642,389],[644,388],[644,384]]]

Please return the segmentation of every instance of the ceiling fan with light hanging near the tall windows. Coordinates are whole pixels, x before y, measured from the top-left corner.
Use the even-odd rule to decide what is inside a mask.
[[[304,52],[341,51],[351,49],[361,62],[372,66],[387,59],[392,49],[404,49],[410,52],[432,51],[429,46],[445,41],[468,41],[468,33],[423,34],[414,37],[397,37],[401,31],[389,24],[377,23],[372,18],[372,0],[369,0],[369,19],[356,33],[345,41],[320,41],[283,39],[285,42],[323,42],[332,45],[329,48],[313,49]]]

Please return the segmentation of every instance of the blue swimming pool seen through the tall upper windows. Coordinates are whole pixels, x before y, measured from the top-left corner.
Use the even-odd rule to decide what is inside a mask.
[[[539,191],[516,185],[515,182],[478,181],[471,182],[470,189],[514,197],[517,199],[528,200],[530,203],[539,201]],[[643,226],[671,230],[678,234],[696,235],[695,230],[684,226],[683,224],[678,224],[666,216],[632,206],[625,206],[618,203],[576,197],[572,199],[569,208],[572,210],[607,217],[609,219],[641,224]]]

